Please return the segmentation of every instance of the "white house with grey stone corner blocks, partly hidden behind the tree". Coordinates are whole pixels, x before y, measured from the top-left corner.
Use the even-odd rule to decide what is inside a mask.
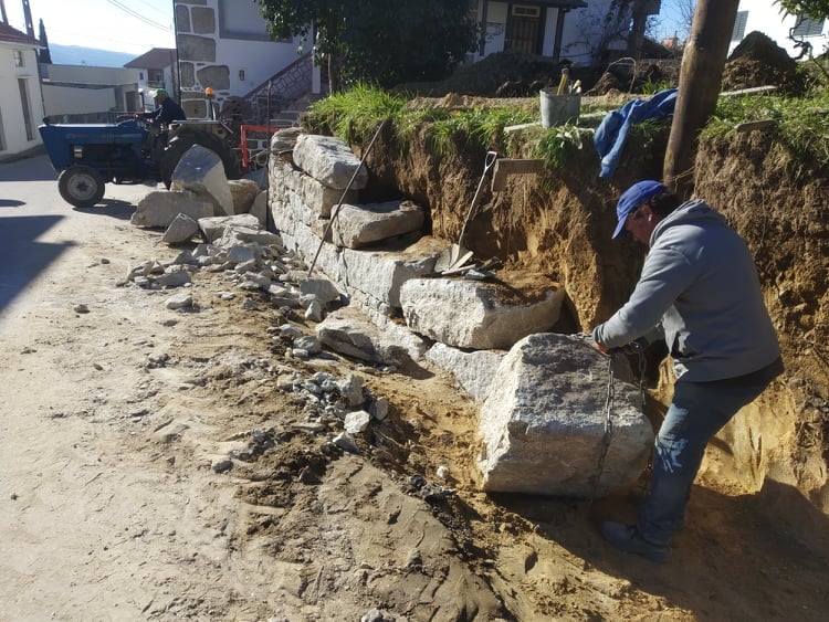
[[[326,86],[313,65],[313,41],[271,41],[259,4],[249,0],[174,0],[181,106],[190,118],[208,116],[211,88],[222,118],[263,123],[266,108],[319,94]],[[630,14],[608,24],[611,0],[478,0],[473,20],[484,33],[470,62],[520,51],[590,64],[627,45]],[[633,0],[639,13],[659,12],[659,0]],[[642,19],[643,20],[643,19]],[[643,21],[642,21],[643,23]]]

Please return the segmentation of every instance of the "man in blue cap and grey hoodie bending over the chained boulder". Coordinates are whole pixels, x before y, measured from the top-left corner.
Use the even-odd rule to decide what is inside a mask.
[[[616,213],[613,239],[627,232],[650,250],[630,299],[594,329],[595,346],[607,354],[663,336],[676,382],[637,524],[607,521],[601,534],[664,562],[705,445],[783,373],[783,361],[752,255],[722,214],[701,200],[680,204],[653,180],[626,190]]]

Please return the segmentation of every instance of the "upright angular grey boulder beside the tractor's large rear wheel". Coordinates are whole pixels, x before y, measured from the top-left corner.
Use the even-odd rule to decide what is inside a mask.
[[[230,193],[222,159],[207,147],[193,145],[172,171],[171,190],[189,190],[203,201],[210,201],[219,215],[233,214],[233,196]]]

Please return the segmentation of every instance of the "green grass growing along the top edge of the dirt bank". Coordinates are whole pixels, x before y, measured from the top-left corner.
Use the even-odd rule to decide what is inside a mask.
[[[655,87],[655,86],[654,86]],[[379,124],[390,122],[391,133],[402,151],[416,136],[426,136],[441,157],[453,157],[466,149],[496,150],[502,157],[532,154],[550,169],[562,169],[578,149],[590,146],[594,127],[541,125],[507,137],[504,128],[539,119],[537,109],[518,107],[462,108],[452,110],[437,105],[408,107],[410,97],[391,94],[367,84],[334,94],[315,103],[305,119],[312,131],[328,130],[348,141],[369,139]],[[437,101],[436,101],[437,102]],[[816,92],[809,98],[776,95],[720,97],[716,112],[701,138],[734,133],[738,123],[773,118],[773,131],[791,155],[793,166],[802,164],[829,167],[829,92]],[[610,110],[608,110],[610,112]],[[597,122],[598,123],[598,122]],[[661,124],[641,124],[637,133],[664,131]],[[526,156],[525,156],[526,157]]]

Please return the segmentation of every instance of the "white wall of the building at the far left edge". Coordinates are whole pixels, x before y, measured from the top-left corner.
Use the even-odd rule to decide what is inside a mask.
[[[0,159],[40,145],[43,98],[38,75],[40,42],[0,22]]]

